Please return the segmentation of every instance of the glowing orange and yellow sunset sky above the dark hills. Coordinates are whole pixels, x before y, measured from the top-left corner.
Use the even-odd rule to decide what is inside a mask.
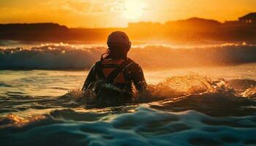
[[[236,20],[256,12],[256,0],[0,0],[0,23],[60,23],[69,27],[191,17]]]

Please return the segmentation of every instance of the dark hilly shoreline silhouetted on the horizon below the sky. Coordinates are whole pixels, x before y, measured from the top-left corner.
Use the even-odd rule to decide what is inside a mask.
[[[0,39],[38,42],[101,42],[111,31],[133,40],[255,42],[256,23],[189,18],[167,23],[129,23],[127,28],[67,28],[56,23],[0,24]]]

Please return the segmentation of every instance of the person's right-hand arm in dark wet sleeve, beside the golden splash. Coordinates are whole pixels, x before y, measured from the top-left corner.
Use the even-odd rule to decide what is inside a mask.
[[[139,93],[143,93],[147,89],[147,83],[141,67],[134,63],[129,67],[129,77],[131,77],[136,89]]]

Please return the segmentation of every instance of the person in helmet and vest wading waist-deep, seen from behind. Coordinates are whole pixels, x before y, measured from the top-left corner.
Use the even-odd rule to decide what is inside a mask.
[[[108,50],[102,54],[86,78],[83,91],[88,89],[99,93],[108,91],[124,96],[132,95],[132,83],[139,93],[146,91],[146,80],[141,67],[127,58],[131,47],[129,37],[122,31],[114,31],[108,36]],[[103,87],[102,87],[103,86]],[[109,90],[110,91],[110,90]],[[104,93],[105,94],[105,93]]]

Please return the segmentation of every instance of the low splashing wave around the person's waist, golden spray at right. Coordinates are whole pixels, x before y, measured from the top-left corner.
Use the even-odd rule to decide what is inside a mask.
[[[94,94],[70,90],[63,96],[23,96],[8,93],[0,99],[1,115],[26,110],[54,110],[59,108],[104,109],[148,104],[161,110],[197,110],[208,115],[248,115],[256,112],[255,80],[211,80],[197,74],[169,77],[157,85],[148,85],[148,92],[135,93],[132,101],[105,102]],[[113,97],[114,99],[114,97]],[[249,107],[252,106],[252,107]],[[228,108],[227,108],[228,107]],[[227,113],[223,110],[228,111]]]

